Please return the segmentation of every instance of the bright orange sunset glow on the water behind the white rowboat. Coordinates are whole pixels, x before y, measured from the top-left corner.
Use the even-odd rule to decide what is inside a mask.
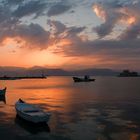
[[[55,77],[54,80],[52,77],[45,80],[2,81],[1,87],[7,87],[7,107],[4,107],[4,112],[13,115],[11,106],[14,107],[19,98],[32,104],[42,105],[46,110],[69,112],[72,109],[70,105],[77,96],[74,95],[74,89],[69,87],[70,82],[73,84],[71,79],[63,77],[61,79]]]

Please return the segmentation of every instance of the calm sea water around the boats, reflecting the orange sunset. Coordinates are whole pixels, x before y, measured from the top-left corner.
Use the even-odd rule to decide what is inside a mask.
[[[96,77],[73,83],[71,77],[0,81],[0,140],[140,140],[140,78]],[[34,126],[16,116],[22,98],[52,116]]]

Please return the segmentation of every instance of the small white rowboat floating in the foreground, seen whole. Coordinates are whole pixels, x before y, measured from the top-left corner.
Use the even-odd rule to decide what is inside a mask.
[[[15,104],[17,115],[26,121],[33,123],[48,122],[50,119],[50,113],[44,112],[39,107],[28,104],[19,99]]]

